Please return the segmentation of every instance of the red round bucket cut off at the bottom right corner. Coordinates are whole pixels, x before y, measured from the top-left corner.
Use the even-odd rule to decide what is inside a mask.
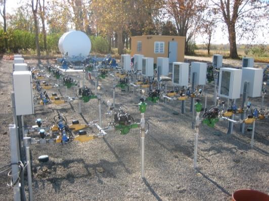
[[[241,189],[233,193],[233,201],[269,201],[269,195],[251,189]]]

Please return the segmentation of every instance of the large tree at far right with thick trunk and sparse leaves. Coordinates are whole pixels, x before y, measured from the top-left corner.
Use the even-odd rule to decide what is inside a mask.
[[[230,43],[230,57],[238,58],[236,46],[237,31],[243,35],[258,28],[260,20],[264,20],[263,27],[268,25],[268,3],[263,0],[210,0],[216,14],[227,25]]]

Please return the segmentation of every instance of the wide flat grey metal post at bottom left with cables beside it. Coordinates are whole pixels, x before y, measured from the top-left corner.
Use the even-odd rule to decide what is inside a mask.
[[[16,181],[17,178],[19,177],[18,162],[20,161],[20,155],[18,152],[20,147],[19,147],[19,139],[18,139],[18,135],[17,135],[16,125],[14,125],[14,124],[9,125],[9,132],[10,132],[10,152],[11,152],[11,164],[12,164],[11,165],[12,181]],[[14,197],[14,201],[21,200],[20,182],[17,182],[13,186],[13,197]]]

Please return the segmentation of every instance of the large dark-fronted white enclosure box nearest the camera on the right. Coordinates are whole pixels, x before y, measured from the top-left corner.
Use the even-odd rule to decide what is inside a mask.
[[[219,71],[218,95],[220,97],[240,98],[242,70],[221,68]]]

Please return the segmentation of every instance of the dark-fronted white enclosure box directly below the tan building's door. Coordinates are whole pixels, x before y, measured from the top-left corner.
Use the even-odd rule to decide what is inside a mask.
[[[188,86],[189,63],[173,62],[172,81],[174,85]]]

